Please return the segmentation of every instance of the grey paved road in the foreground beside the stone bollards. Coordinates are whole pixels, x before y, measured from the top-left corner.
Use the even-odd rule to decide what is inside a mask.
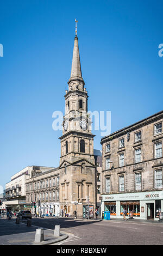
[[[33,218],[37,227],[54,229],[60,224],[61,231],[69,238],[55,245],[162,245],[162,222],[136,222],[134,220],[68,220],[66,218]]]

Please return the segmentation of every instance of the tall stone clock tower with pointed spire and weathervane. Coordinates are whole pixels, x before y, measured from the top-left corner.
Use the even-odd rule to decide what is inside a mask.
[[[77,22],[77,21],[76,21]],[[95,210],[95,157],[88,95],[82,77],[77,37],[74,38],[71,76],[65,94],[60,156],[60,210],[85,217],[86,205]]]

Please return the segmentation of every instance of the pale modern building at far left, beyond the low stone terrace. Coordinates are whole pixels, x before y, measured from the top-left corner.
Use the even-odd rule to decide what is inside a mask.
[[[45,172],[49,169],[52,167],[27,166],[12,175],[11,180],[5,185],[5,208],[13,212],[23,210],[24,205],[26,205],[26,180],[35,173]]]

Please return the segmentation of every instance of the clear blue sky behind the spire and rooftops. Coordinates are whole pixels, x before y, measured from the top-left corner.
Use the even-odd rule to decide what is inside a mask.
[[[30,165],[59,165],[74,19],[89,110],[111,111],[111,132],[162,110],[163,1],[1,1],[1,181]],[[101,149],[101,132],[94,131]]]

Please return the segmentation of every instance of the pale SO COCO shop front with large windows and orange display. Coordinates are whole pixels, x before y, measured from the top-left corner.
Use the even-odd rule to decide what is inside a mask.
[[[105,194],[102,196],[101,209],[110,211],[112,217],[127,216],[142,220],[158,220],[163,212],[163,191]]]

